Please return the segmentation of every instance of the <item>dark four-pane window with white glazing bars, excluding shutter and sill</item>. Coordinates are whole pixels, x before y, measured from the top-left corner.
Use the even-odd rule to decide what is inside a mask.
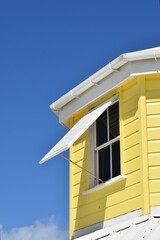
[[[95,121],[94,139],[94,172],[96,176],[103,182],[105,182],[111,178],[120,175],[118,101],[110,105]],[[99,183],[101,183],[100,180],[94,181],[94,185]],[[93,184],[91,185],[91,187],[93,187]]]

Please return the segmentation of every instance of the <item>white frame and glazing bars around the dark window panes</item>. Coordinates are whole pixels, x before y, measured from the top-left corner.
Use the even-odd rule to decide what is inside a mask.
[[[111,99],[112,98],[108,99],[107,102],[111,101]],[[118,95],[116,95],[116,98],[114,98],[114,100],[108,106],[107,109],[109,109],[109,107],[112,106],[116,102],[119,102],[119,96]],[[107,118],[109,118],[109,114],[107,114]],[[109,121],[107,121],[107,122],[109,124]],[[108,134],[109,134],[109,131],[108,131]],[[98,178],[99,178],[98,150],[103,149],[103,148],[105,148],[107,146],[111,146],[114,142],[117,142],[117,141],[120,141],[120,135],[115,137],[115,138],[113,138],[112,140],[109,140],[109,141],[105,142],[104,144],[96,147],[96,121],[89,128],[89,170],[90,170],[90,172],[92,172]],[[112,151],[110,151],[110,154],[111,154],[110,155],[110,163],[111,163],[110,164],[110,173],[111,173],[111,178],[108,181],[111,181],[111,179],[114,179],[114,177],[112,177],[112,153],[111,152]],[[120,161],[121,161],[121,159],[120,159]],[[121,175],[121,172],[120,172],[119,176],[120,175]],[[115,178],[117,178],[117,176]],[[95,186],[100,185],[99,180],[97,180],[96,178],[93,178],[92,176],[90,176],[90,178],[89,178],[89,184],[90,184],[90,188],[94,188]]]

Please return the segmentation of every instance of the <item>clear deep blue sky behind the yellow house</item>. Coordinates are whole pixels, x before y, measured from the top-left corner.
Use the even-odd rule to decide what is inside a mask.
[[[66,132],[49,105],[120,54],[159,46],[159,23],[159,0],[0,0],[4,240],[30,226],[66,233],[68,162],[38,164]]]

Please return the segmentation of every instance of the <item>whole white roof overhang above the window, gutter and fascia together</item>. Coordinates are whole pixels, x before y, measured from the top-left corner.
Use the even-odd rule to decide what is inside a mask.
[[[122,54],[50,105],[61,124],[135,75],[160,72],[160,47]]]

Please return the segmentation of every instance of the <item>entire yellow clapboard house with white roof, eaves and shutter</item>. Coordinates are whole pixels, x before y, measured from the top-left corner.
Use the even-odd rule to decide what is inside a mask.
[[[70,130],[40,163],[70,149],[70,239],[160,239],[159,58],[123,54],[51,104]]]

